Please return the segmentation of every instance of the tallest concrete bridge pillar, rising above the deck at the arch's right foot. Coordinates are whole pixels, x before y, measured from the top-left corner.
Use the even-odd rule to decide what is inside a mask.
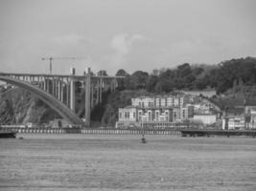
[[[91,69],[87,69],[85,78],[85,125],[90,126],[91,122]]]

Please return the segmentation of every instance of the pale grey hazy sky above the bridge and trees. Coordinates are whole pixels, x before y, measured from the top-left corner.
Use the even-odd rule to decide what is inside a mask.
[[[132,74],[256,56],[255,10],[255,0],[0,0],[0,72],[49,74],[43,57],[58,58],[54,74]]]

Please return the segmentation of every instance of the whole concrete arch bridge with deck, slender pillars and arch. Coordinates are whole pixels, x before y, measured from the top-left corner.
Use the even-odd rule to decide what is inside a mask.
[[[114,91],[121,76],[92,75],[90,68],[84,75],[72,74],[14,74],[0,73],[0,80],[26,89],[38,96],[69,124],[90,125],[91,109],[102,102],[103,92]],[[85,123],[75,113],[75,83],[85,92]]]

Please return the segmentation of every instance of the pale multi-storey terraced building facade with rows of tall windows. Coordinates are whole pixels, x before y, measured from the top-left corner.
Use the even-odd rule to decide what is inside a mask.
[[[141,123],[175,123],[193,117],[194,106],[188,96],[140,96],[131,105],[119,108],[117,127],[140,126]],[[153,126],[153,125],[152,125]]]

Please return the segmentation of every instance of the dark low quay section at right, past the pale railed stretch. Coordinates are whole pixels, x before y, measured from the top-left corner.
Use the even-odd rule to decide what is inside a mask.
[[[249,136],[256,137],[256,130],[180,130],[181,137]]]

